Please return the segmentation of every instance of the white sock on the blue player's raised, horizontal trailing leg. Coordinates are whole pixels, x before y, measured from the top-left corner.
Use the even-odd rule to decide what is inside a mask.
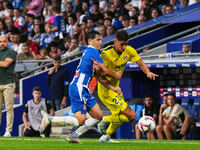
[[[49,116],[49,120],[56,124],[66,123],[72,126],[79,126],[78,120],[72,116]]]

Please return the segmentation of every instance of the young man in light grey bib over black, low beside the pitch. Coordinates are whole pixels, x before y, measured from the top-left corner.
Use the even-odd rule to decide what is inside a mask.
[[[49,115],[55,115],[54,109],[49,102],[42,98],[42,89],[34,87],[32,91],[33,99],[29,100],[23,113],[23,122],[25,125],[24,136],[40,137],[40,124],[42,121],[41,110],[46,111]],[[45,137],[51,133],[51,124],[43,131]]]

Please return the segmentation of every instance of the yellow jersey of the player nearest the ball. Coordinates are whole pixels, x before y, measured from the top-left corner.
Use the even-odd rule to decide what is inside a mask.
[[[112,45],[102,50],[101,57],[104,61],[104,65],[113,73],[116,73],[118,71],[121,71],[123,73],[125,65],[128,61],[137,62],[141,59],[141,57],[137,54],[137,51],[131,46],[126,46],[126,49],[121,54],[118,54]],[[120,80],[108,76],[106,76],[106,79],[114,87],[119,86]],[[109,96],[108,90],[109,89],[103,86],[101,83],[98,83],[98,94],[107,97]]]

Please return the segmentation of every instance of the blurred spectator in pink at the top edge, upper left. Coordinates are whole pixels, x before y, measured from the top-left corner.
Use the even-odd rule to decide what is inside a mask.
[[[39,15],[42,12],[42,0],[32,0],[28,6],[26,6],[27,14]]]

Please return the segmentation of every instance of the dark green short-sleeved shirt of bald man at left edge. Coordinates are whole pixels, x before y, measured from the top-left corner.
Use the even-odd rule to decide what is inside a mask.
[[[0,50],[0,61],[4,61],[6,58],[11,58],[13,62],[9,67],[0,67],[0,84],[9,84],[15,82],[15,64],[16,64],[17,53],[10,49],[6,48],[4,50]]]

